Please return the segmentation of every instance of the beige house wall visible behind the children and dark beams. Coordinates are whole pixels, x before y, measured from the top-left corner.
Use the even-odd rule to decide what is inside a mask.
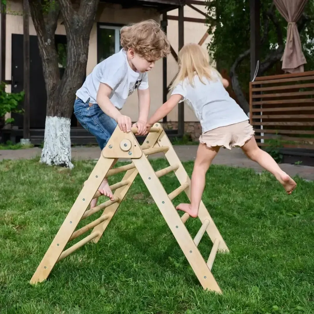
[[[204,6],[198,6],[201,10],[205,10]],[[173,10],[168,13],[169,15],[178,15],[178,10]],[[204,18],[203,15],[185,6],[184,14],[188,17]],[[88,75],[95,65],[97,64],[97,22],[103,23],[116,23],[128,24],[138,22],[143,19],[155,19],[160,22],[160,14],[154,9],[150,8],[129,8],[122,9],[118,4],[100,3],[98,12],[96,14],[95,23],[91,30],[89,39],[89,54],[86,68],[86,75]],[[61,24],[62,20],[58,21],[56,34],[65,35],[64,25]],[[184,25],[184,42],[196,42],[203,37],[207,27],[201,23],[185,22]],[[6,17],[6,71],[5,78],[11,80],[11,47],[12,47],[12,34],[23,34],[23,16],[22,16],[22,1],[8,0],[7,1],[7,17]],[[195,36],[195,34],[198,34]],[[30,35],[36,35],[34,24],[30,18]],[[178,52],[178,22],[174,20],[168,21],[167,36],[171,42],[172,47]],[[198,38],[199,37],[199,38]],[[206,48],[209,38],[203,44]],[[177,64],[175,59],[170,55],[168,57],[168,84],[177,72]],[[162,60],[156,62],[155,68],[149,73],[149,87],[151,93],[151,106],[150,115],[162,104]],[[7,86],[7,92],[11,92],[11,85]],[[169,95],[168,95],[169,96]],[[127,100],[122,113],[136,121],[138,118],[137,93],[133,93]],[[171,111],[168,116],[168,121],[177,121],[177,107]],[[186,106],[185,107],[185,121],[197,121],[193,112]]]

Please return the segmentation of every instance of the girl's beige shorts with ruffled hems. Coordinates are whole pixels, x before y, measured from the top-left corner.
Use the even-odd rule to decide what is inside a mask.
[[[252,125],[246,120],[205,132],[199,137],[199,141],[208,147],[221,146],[231,149],[242,147],[254,133]]]

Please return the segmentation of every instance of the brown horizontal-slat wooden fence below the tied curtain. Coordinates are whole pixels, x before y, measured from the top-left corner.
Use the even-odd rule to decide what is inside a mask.
[[[314,149],[314,71],[250,82],[250,123],[260,146]]]

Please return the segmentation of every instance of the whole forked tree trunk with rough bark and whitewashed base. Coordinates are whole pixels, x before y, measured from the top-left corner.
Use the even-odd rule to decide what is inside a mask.
[[[78,11],[69,0],[52,1],[45,19],[40,0],[29,1],[47,90],[45,138],[40,162],[72,169],[71,115],[75,92],[81,87],[86,73],[89,35],[99,0],[81,0]],[[60,12],[67,35],[67,65],[62,79],[54,41]]]

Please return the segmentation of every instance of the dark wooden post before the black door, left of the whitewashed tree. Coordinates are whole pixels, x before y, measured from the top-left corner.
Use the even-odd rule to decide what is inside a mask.
[[[24,84],[24,121],[23,139],[30,139],[30,19],[29,3],[23,0],[23,84]]]

